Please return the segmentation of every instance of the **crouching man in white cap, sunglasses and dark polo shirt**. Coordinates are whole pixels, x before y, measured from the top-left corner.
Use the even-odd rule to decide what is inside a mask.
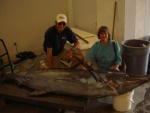
[[[74,52],[80,43],[72,30],[67,26],[67,17],[64,14],[56,16],[55,25],[51,26],[45,33],[44,51],[47,54],[47,63],[49,68],[54,68],[54,57],[62,53],[66,41],[73,44],[72,48],[63,56],[63,59],[73,61],[70,68],[76,68],[79,62],[73,57],[76,56],[82,61],[83,55]]]

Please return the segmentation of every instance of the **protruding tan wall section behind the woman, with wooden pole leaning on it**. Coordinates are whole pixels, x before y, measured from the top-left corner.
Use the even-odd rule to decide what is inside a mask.
[[[116,1],[116,14],[114,18]],[[113,39],[121,42],[124,39],[124,21],[125,21],[125,0],[97,0],[97,29],[105,25],[109,28],[110,34],[113,32]],[[113,23],[113,21],[115,22]]]

